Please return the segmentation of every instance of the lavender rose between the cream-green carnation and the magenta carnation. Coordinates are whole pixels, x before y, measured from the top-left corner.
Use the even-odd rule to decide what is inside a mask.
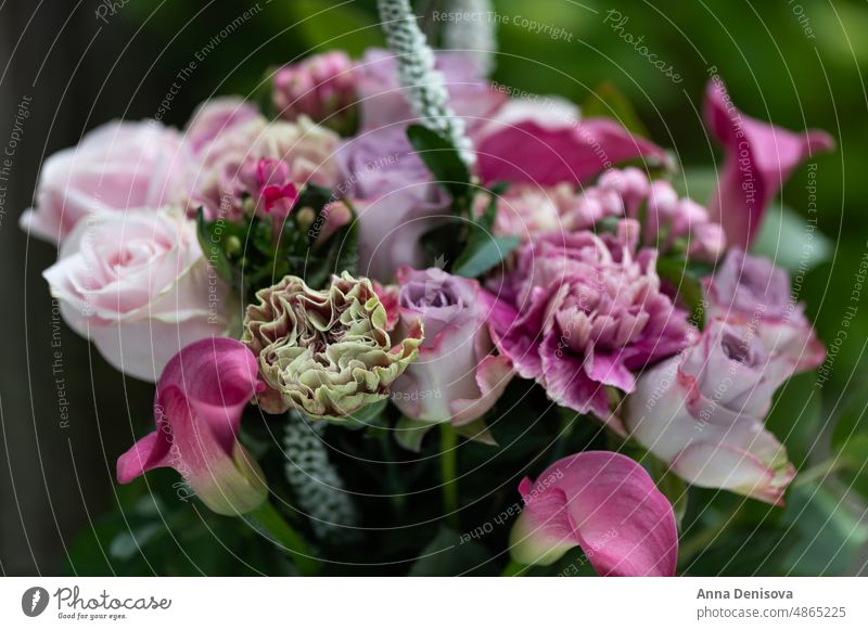
[[[506,357],[494,356],[486,311],[475,280],[442,269],[398,271],[397,331],[406,335],[421,318],[425,340],[419,358],[392,387],[407,416],[468,424],[486,413],[512,377]]]

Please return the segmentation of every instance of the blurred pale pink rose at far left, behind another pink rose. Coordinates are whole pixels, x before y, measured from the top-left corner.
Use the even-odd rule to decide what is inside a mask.
[[[155,120],[107,123],[46,160],[36,207],[21,227],[62,243],[88,215],[171,203],[183,190],[188,159],[180,134]]]

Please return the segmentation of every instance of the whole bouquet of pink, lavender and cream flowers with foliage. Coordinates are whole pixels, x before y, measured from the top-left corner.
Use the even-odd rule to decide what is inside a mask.
[[[488,81],[490,37],[435,52],[407,0],[379,8],[387,49],[44,164],[22,226],[58,244],[63,318],[156,384],[117,459],[131,522],[213,525],[273,573],[671,576],[697,488],[782,504],[765,420],[825,348],[748,252],[831,139],[715,75],[697,201],[620,120]]]

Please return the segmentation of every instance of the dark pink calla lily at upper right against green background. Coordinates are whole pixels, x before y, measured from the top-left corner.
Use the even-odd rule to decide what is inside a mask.
[[[825,131],[794,133],[745,116],[719,80],[705,89],[705,125],[726,153],[709,203],[712,219],[724,227],[728,244],[748,249],[766,207],[793,170],[815,153],[832,150],[834,140]]]

